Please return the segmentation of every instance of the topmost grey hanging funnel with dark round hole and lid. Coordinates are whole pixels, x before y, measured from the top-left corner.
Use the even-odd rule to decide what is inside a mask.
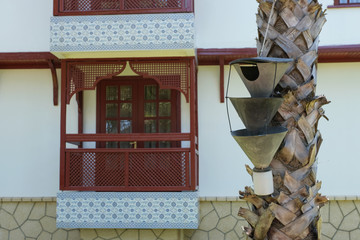
[[[252,97],[269,97],[293,59],[243,58],[232,61]]]

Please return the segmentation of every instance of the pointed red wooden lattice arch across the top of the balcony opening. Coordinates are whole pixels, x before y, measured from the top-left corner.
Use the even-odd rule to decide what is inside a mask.
[[[126,62],[134,73],[154,79],[160,88],[180,91],[189,102],[190,60],[182,58],[67,61],[66,103],[76,93],[94,90],[101,80],[121,74]]]

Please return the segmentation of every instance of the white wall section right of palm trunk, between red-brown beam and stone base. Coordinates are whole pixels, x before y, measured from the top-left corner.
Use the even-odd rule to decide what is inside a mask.
[[[317,94],[331,101],[324,106],[329,121],[319,123],[318,179],[326,195],[360,195],[359,76],[360,63],[319,64]]]

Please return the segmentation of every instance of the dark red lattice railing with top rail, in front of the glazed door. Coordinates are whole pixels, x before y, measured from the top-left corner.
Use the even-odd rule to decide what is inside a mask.
[[[190,141],[189,133],[66,134],[66,142]],[[65,149],[64,186],[77,191],[186,191],[197,185],[191,148]]]

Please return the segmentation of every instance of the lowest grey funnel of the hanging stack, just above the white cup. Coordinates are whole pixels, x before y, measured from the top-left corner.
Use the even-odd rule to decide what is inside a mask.
[[[286,133],[287,129],[284,127],[268,127],[265,134],[242,129],[232,131],[231,135],[254,166],[264,169],[270,165]]]

